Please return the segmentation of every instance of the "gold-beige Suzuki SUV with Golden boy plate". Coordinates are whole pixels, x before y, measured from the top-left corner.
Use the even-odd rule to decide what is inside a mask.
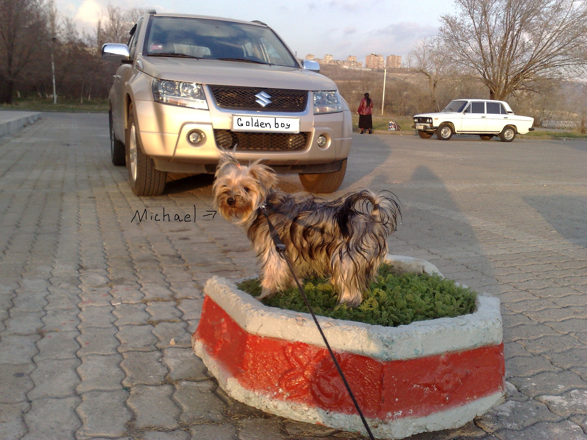
[[[318,63],[296,60],[265,23],[149,11],[130,35],[102,57],[120,64],[110,150],[134,194],[161,194],[167,172],[213,173],[221,150],[299,174],[311,192],[339,188],[349,107]]]

